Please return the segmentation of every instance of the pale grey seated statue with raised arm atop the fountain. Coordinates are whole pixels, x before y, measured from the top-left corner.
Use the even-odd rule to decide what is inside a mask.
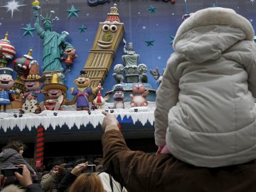
[[[124,55],[122,55],[122,60],[125,63],[125,66],[131,66],[131,65],[137,65],[139,60],[139,54],[135,53],[133,50],[132,42],[128,43],[128,50],[127,48],[127,42],[125,39],[123,39],[124,42]]]

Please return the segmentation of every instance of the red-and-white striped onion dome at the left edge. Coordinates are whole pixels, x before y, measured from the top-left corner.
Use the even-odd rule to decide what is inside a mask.
[[[8,33],[6,33],[4,39],[0,40],[0,67],[6,67],[9,60],[12,60],[16,55],[16,49],[11,46],[8,36]]]

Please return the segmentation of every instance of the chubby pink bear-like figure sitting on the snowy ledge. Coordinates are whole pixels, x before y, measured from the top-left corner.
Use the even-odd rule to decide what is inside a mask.
[[[132,97],[132,101],[130,103],[132,107],[146,107],[148,105],[146,97],[149,95],[149,90],[146,90],[143,83],[134,83],[132,86],[132,92],[134,93],[134,95],[130,95],[130,97]]]

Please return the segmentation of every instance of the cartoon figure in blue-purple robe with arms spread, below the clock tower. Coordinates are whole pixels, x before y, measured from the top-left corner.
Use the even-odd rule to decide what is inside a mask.
[[[80,75],[74,80],[74,82],[78,87],[72,87],[71,94],[77,96],[77,110],[89,111],[88,99],[90,95],[95,94],[97,88],[92,90],[92,87],[89,87],[91,80],[90,78],[87,78],[86,72],[83,70],[80,71]]]

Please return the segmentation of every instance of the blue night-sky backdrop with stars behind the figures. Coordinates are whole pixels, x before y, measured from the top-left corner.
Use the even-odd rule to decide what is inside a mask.
[[[28,50],[33,47],[33,58],[42,63],[41,39],[37,36],[36,31],[33,31],[33,36],[23,36],[24,31],[21,29],[26,28],[28,23],[33,26],[35,21],[31,2],[32,0],[0,1],[0,36],[4,38],[6,31],[9,31],[9,40],[17,51],[16,58],[27,54]],[[79,55],[75,59],[72,72],[68,73],[66,77],[65,84],[68,87],[75,86],[73,80],[85,65],[98,23],[105,21],[107,13],[110,12],[110,7],[114,3],[117,3],[119,18],[124,23],[124,38],[127,42],[134,43],[134,50],[140,55],[139,63],[145,63],[149,69],[159,67],[160,72],[165,67],[169,55],[174,51],[171,45],[171,36],[175,36],[177,28],[182,22],[181,17],[186,12],[183,0],[176,0],[176,4],[171,4],[171,1],[109,0],[103,4],[97,4],[97,6],[89,6],[86,0],[40,0],[40,2],[43,16],[50,13],[51,10],[55,11],[53,16],[58,16],[59,20],[53,23],[53,31],[58,33],[68,31],[70,36],[66,40],[72,43]],[[187,3],[189,12],[210,6],[222,6],[234,9],[245,16],[251,21],[252,26],[256,21],[255,0],[187,0]],[[18,5],[16,9],[11,6],[15,4]],[[68,19],[66,10],[70,9],[72,5],[80,11],[78,11],[78,17],[71,16]],[[87,27],[84,33],[80,33],[79,29],[82,25]],[[147,46],[145,41],[149,39],[154,42],[153,45]],[[114,78],[112,78],[113,67],[117,63],[122,63],[122,47],[123,43],[119,46],[110,73],[105,80],[104,92],[111,90],[115,84]],[[157,88],[154,78],[150,74],[148,76],[149,83]],[[68,97],[72,98],[70,92],[68,92]]]

